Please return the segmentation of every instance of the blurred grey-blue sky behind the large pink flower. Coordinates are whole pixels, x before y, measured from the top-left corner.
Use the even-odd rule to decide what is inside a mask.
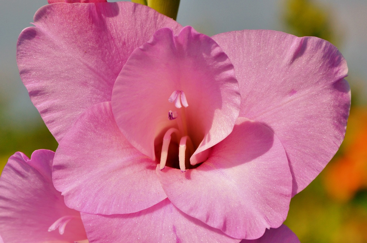
[[[348,81],[367,104],[367,1],[315,0],[331,12],[341,36],[338,48],[345,56]],[[15,48],[19,33],[31,26],[33,15],[47,0],[0,0],[0,102],[14,126],[27,129],[40,117],[18,74]],[[242,29],[285,31],[281,21],[284,0],[181,0],[177,21],[209,36]]]

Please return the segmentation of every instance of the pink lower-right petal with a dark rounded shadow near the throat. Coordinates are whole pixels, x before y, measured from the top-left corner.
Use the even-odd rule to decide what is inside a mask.
[[[259,122],[237,119],[233,132],[196,169],[166,167],[157,174],[178,209],[234,238],[257,239],[287,217],[292,189],[287,157],[279,139]]]

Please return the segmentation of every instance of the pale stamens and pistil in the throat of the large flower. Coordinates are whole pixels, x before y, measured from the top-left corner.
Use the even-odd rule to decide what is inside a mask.
[[[175,104],[176,108],[181,108],[182,106],[188,107],[189,104],[186,100],[186,95],[182,90],[175,90],[172,95],[168,98],[168,101]],[[176,119],[178,118],[178,119]],[[175,134],[179,139],[179,146],[178,146],[178,164],[179,168],[182,172],[186,171],[186,162],[189,163],[190,155],[193,154],[194,146],[193,143],[188,136],[187,133],[187,126],[186,126],[186,116],[185,116],[185,110],[181,110],[181,113],[178,115],[177,111],[168,111],[168,120],[176,121],[177,128],[170,128],[167,130],[167,132],[163,136],[163,144],[162,144],[162,151],[161,151],[161,157],[160,157],[160,166],[159,169],[163,170],[166,166],[167,158],[168,158],[168,148],[170,147],[171,143],[171,135]],[[186,151],[186,148],[189,148],[188,151]],[[189,156],[186,156],[186,153]],[[177,155],[176,155],[177,157]],[[176,159],[177,160],[177,159]]]

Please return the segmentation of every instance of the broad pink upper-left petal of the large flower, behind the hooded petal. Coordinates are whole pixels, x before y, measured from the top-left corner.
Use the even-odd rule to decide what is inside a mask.
[[[129,2],[50,4],[19,36],[23,83],[51,133],[60,141],[88,107],[110,101],[128,56],[161,27],[181,25]]]

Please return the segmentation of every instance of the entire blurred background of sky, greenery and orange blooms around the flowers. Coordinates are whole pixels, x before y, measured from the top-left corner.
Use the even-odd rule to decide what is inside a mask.
[[[19,33],[47,0],[0,0],[0,171],[16,151],[55,151],[15,60]],[[302,243],[367,243],[367,1],[181,0],[177,21],[201,33],[272,29],[330,41],[348,62],[352,108],[345,140],[326,169],[296,195],[287,221]]]

